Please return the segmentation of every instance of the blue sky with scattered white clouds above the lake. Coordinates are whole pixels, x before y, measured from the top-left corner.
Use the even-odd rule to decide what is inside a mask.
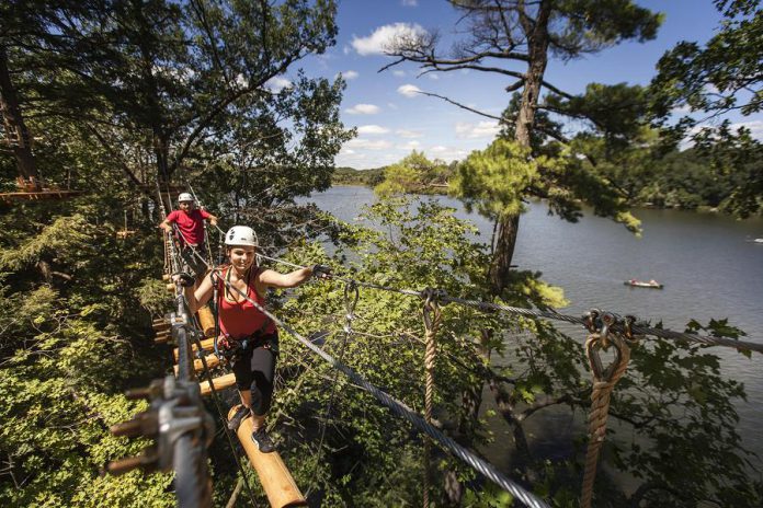
[[[665,14],[657,39],[626,43],[567,64],[553,60],[546,79],[571,93],[582,92],[594,81],[647,84],[667,49],[679,41],[707,41],[720,20],[711,0],[638,3]],[[382,54],[389,34],[419,25],[447,38],[454,36],[456,21],[455,10],[445,0],[340,0],[337,46],[326,55],[308,58],[304,66],[311,76],[333,78],[341,72],[348,82],[342,120],[348,127],[357,127],[358,135],[342,148],[338,166],[378,168],[399,161],[413,149],[431,159],[452,161],[490,143],[497,132],[494,122],[435,97],[405,92],[415,86],[498,115],[509,100],[503,90],[510,83],[506,77],[475,71],[419,77],[412,64],[378,72],[391,61]],[[763,132],[760,116],[731,119]]]

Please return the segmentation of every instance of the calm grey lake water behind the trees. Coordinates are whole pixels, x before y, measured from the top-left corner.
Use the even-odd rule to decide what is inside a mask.
[[[374,199],[365,187],[333,187],[307,200],[352,221]],[[456,208],[457,217],[471,220],[481,241],[490,240],[492,228],[486,219],[466,213],[455,199],[437,199]],[[636,212],[644,228],[638,239],[607,219],[587,216],[571,224],[546,210],[534,204],[523,216],[513,263],[543,272],[546,281],[565,289],[570,305],[562,313],[581,315],[600,308],[661,320],[679,331],[691,319],[707,323],[728,318],[748,333],[745,339],[763,343],[763,244],[749,241],[763,238],[763,219],[734,221],[715,213],[644,209]],[[665,287],[660,291],[624,286],[630,278],[653,278]],[[582,330],[573,334],[578,335],[582,342]],[[714,353],[724,359],[724,373],[745,384],[748,403],[738,406],[738,430],[745,447],[763,457],[763,355],[749,360],[724,347]]]

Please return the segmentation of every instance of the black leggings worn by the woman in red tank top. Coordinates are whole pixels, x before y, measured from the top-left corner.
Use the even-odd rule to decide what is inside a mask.
[[[236,386],[240,391],[251,390],[252,412],[258,416],[267,414],[273,402],[277,340],[277,334],[271,335],[260,342],[258,347],[247,348],[234,361]]]

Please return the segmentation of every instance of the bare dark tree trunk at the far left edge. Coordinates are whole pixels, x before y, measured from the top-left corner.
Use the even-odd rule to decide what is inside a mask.
[[[0,113],[5,127],[5,138],[11,143],[13,155],[16,160],[19,176],[32,190],[38,190],[41,178],[37,166],[32,157],[30,132],[24,125],[21,107],[11,82],[11,73],[8,70],[8,53],[4,46],[0,46]]]

